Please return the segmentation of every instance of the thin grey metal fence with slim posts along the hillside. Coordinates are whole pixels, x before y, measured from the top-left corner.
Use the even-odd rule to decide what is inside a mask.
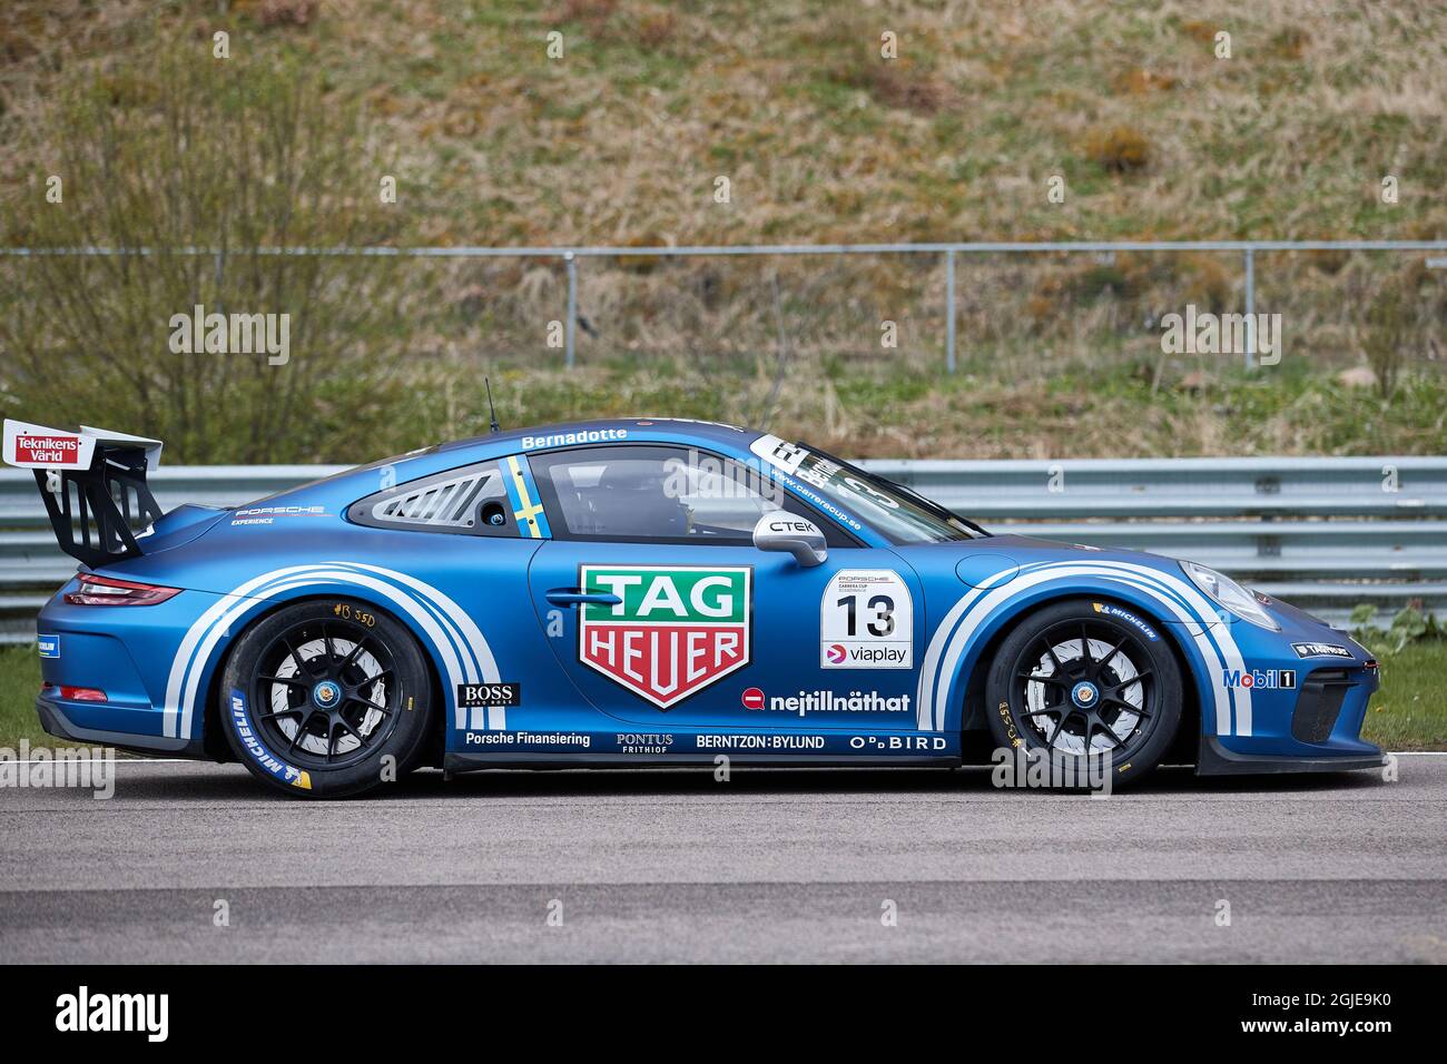
[[[682,245],[655,248],[577,246],[577,248],[486,248],[456,245],[450,248],[407,246],[334,246],[334,248],[0,248],[0,258],[46,258],[64,255],[120,255],[152,258],[158,255],[208,256],[217,261],[237,255],[357,256],[385,259],[557,259],[567,272],[567,316],[564,318],[564,363],[573,368],[577,350],[577,263],[582,259],[641,258],[713,258],[748,255],[941,255],[945,262],[945,368],[954,373],[955,358],[955,256],[956,255],[1030,255],[1081,252],[1223,252],[1239,253],[1243,266],[1243,311],[1246,320],[1246,365],[1256,358],[1256,253],[1257,252],[1441,252],[1447,240],[951,240],[929,243],[774,243],[774,245]],[[1428,259],[1428,265],[1440,259]]]

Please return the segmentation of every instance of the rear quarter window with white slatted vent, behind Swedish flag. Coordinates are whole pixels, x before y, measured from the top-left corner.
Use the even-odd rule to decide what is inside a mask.
[[[479,462],[408,481],[347,507],[347,518],[372,528],[518,536],[504,462]]]

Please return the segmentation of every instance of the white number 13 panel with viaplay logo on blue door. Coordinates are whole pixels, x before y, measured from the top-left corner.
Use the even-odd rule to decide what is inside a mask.
[[[841,569],[819,604],[820,669],[910,669],[915,601],[893,569]]]

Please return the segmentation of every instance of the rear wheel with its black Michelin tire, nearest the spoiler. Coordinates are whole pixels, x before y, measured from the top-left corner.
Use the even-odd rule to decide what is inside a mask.
[[[346,798],[401,779],[427,746],[423,651],[360,601],[298,602],[258,621],[227,659],[220,698],[236,759],[295,798]]]

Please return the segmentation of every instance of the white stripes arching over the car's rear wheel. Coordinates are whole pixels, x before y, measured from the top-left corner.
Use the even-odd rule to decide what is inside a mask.
[[[401,583],[417,595],[414,596],[386,580]],[[460,683],[499,682],[496,660],[482,631],[457,602],[430,583],[391,569],[355,562],[288,566],[239,585],[230,594],[223,595],[221,601],[201,614],[191,625],[171,663],[162,731],[169,737],[178,734],[190,737],[201,676],[207,670],[217,643],[224,638],[236,621],[288,591],[328,582],[368,588],[411,617],[431,640],[447,673],[450,688],[446,692],[446,699],[449,702],[456,701]],[[456,714],[457,727],[466,727],[466,721],[462,719],[463,711],[456,709]]]

